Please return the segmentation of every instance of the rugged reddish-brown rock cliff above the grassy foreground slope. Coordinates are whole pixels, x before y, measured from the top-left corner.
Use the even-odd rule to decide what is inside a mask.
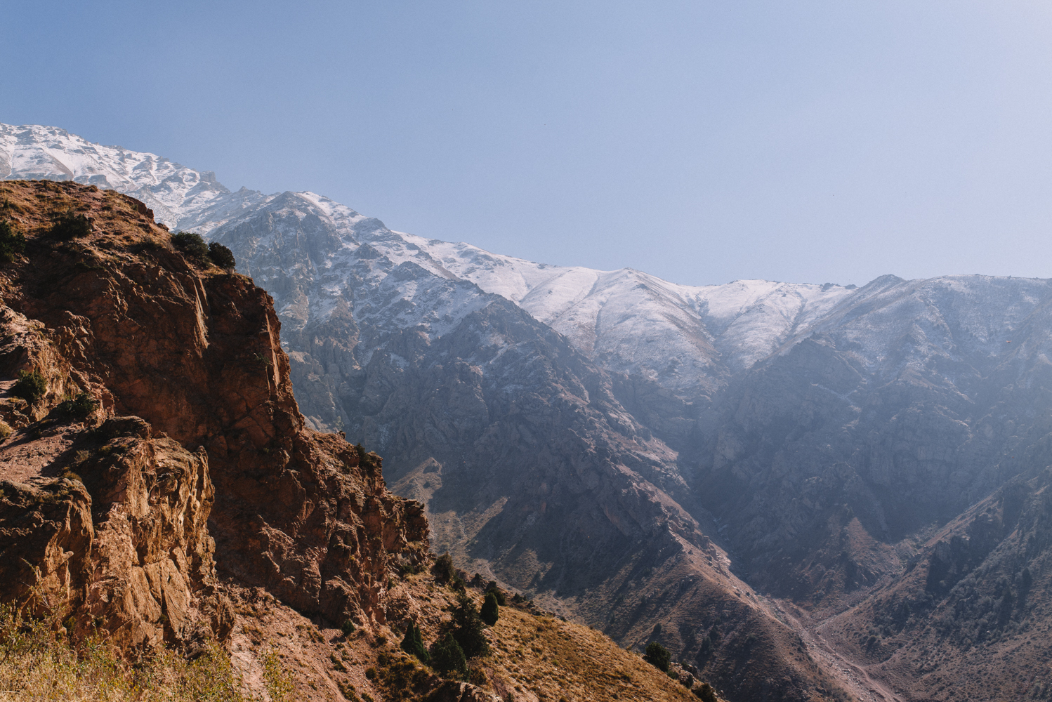
[[[83,483],[70,479],[57,502],[65,507],[46,519],[38,511],[52,524],[37,530],[40,558],[74,553],[64,571],[48,571],[56,582],[81,587],[70,598],[96,616],[124,598],[118,608],[141,615],[121,615],[128,641],[153,640],[160,617],[150,601],[175,613],[196,606],[194,593],[211,579],[214,538],[221,575],[332,622],[382,622],[388,576],[427,557],[423,508],[387,492],[379,457],[304,427],[270,297],[245,276],[190,266],[125,195],[73,183],[0,190],[8,203],[0,216],[28,236],[25,257],[0,266],[0,380],[8,379],[0,387],[18,370],[37,370],[48,389],[32,405],[0,406],[21,425],[0,451],[38,440],[59,421],[53,408],[63,396],[86,391],[99,402],[83,424],[47,429],[65,442],[38,451],[43,459],[32,467],[13,453],[0,479],[44,490],[89,440],[90,426],[113,415],[144,420],[123,439],[118,462],[98,455],[96,436],[95,453],[76,469]],[[94,232],[49,239],[48,211],[69,207],[93,218]],[[0,529],[13,523],[6,515]],[[14,534],[0,539],[14,542]],[[99,584],[122,578],[135,582]],[[166,635],[188,636],[193,619],[166,615]]]

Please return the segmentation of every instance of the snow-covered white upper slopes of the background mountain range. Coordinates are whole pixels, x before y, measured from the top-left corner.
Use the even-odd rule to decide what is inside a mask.
[[[199,172],[153,153],[93,144],[56,127],[0,125],[0,177],[74,180],[115,188],[145,202],[157,221],[173,230],[193,229],[206,235],[239,216],[270,207],[279,197],[300,198],[311,216],[341,240],[341,255],[366,260],[355,252],[368,244],[369,251],[396,265],[412,263],[441,278],[473,283],[564,334],[604,368],[639,373],[688,394],[710,392],[728,372],[766,357],[851,293],[841,286],[768,281],[686,286],[628,268],[601,271],[533,263],[469,244],[392,231],[379,220],[311,192],[264,195],[244,188],[231,192],[210,171]],[[346,263],[333,260],[327,267],[339,278]],[[282,309],[302,322],[324,317],[331,312],[329,295],[340,286],[333,281],[315,300],[282,301]],[[409,292],[403,288],[400,294]],[[418,313],[452,324],[482,304],[473,294],[464,292],[451,306],[442,303],[442,309]],[[421,305],[416,291],[404,298]],[[356,318],[375,314],[363,309],[353,313]],[[404,314],[410,313],[403,313],[399,324],[409,324]]]

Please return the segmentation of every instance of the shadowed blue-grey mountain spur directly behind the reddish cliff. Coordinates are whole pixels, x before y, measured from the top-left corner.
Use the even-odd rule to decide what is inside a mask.
[[[392,260],[375,220],[353,224],[286,193],[211,234],[274,291],[305,413],[383,452],[396,492],[427,504],[437,550],[625,642],[741,629],[761,643],[731,638],[703,670],[736,696],[831,688],[729,572],[677,452],[615,396],[625,376],[503,296]],[[731,675],[750,657],[755,675]]]

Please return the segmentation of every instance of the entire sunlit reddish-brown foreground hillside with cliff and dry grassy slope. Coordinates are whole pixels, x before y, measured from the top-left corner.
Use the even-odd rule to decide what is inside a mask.
[[[113,190],[0,183],[0,245],[25,236],[0,263],[5,687],[141,699],[137,679],[160,699],[173,656],[219,640],[251,691],[291,685],[252,699],[696,699],[692,676],[521,598],[483,633],[471,684],[406,656],[410,622],[433,642],[485,581],[427,573],[423,505],[386,489],[375,453],[304,426],[268,295],[184,257]]]

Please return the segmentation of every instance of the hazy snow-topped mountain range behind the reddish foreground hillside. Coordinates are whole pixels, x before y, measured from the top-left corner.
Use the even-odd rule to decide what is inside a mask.
[[[0,126],[0,177],[232,249],[306,421],[382,453],[469,571],[730,699],[1046,694],[1008,652],[1049,653],[1049,281],[535,264],[50,127]]]

